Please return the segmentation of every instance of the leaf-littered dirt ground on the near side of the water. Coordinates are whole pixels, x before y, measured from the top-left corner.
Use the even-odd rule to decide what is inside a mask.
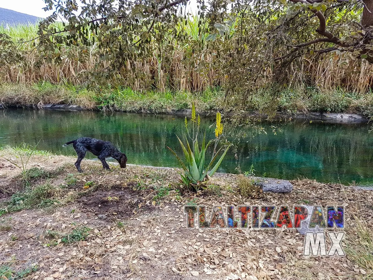
[[[0,156],[19,161],[6,151]],[[6,208],[0,216],[0,279],[373,277],[372,243],[360,242],[362,232],[372,241],[371,190],[302,179],[292,181],[291,193],[254,190],[245,197],[237,175],[216,174],[196,194],[181,189],[177,169],[132,165],[105,171],[98,162],[84,160],[85,173],[79,174],[74,161],[34,156],[28,167],[44,173],[25,185],[19,168],[0,158],[0,208],[10,205],[14,194],[48,186],[41,203],[23,207],[27,200],[17,200],[14,205],[21,203],[22,209]],[[51,205],[48,199],[53,199]],[[187,204],[206,205],[207,217],[213,205],[344,205],[346,256],[303,256],[304,236],[295,229],[188,229]],[[82,228],[89,229],[84,238],[63,241]]]

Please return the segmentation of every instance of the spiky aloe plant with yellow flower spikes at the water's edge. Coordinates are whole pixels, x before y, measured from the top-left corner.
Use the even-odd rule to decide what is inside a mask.
[[[186,187],[188,187],[188,189],[190,187],[194,188],[195,190],[198,190],[200,187],[204,188],[204,184],[209,180],[210,177],[212,177],[212,175],[214,175],[217,168],[219,168],[220,164],[222,163],[224,156],[226,155],[229,148],[231,147],[231,144],[229,144],[228,147],[225,148],[223,154],[220,156],[220,158],[218,159],[216,164],[213,165],[214,162],[216,161],[216,159],[218,158],[218,155],[219,155],[220,151],[223,149],[223,147],[220,147],[220,149],[217,152],[215,152],[217,142],[219,141],[219,137],[220,137],[220,135],[222,134],[222,131],[223,131],[223,127],[222,127],[222,124],[220,122],[220,118],[221,118],[220,113],[218,113],[217,114],[217,128],[215,130],[216,138],[215,138],[214,152],[213,152],[213,155],[212,155],[212,158],[211,158],[209,164],[207,164],[206,167],[205,167],[206,150],[207,150],[207,147],[209,147],[212,140],[210,140],[206,144],[206,141],[205,141],[206,137],[204,136],[202,144],[201,144],[201,149],[199,148],[197,136],[198,136],[199,128],[200,128],[200,116],[198,115],[197,130],[195,130],[195,127],[194,127],[194,122],[195,122],[194,103],[192,104],[192,118],[191,118],[192,126],[193,126],[192,127],[192,137],[189,135],[188,122],[187,122],[186,117],[185,117],[185,128],[186,128],[186,132],[187,132],[188,137],[192,140],[192,147],[191,147],[191,145],[189,145],[189,140],[188,140],[187,136],[185,136],[186,144],[184,144],[181,141],[181,139],[178,136],[176,136],[176,137],[178,137],[180,146],[181,146],[181,148],[184,152],[185,163],[181,160],[181,158],[178,155],[176,155],[176,153],[170,147],[167,147],[167,148],[170,149],[170,151],[173,153],[173,155],[175,155],[176,159],[179,161],[179,164],[181,165],[182,169],[184,170],[184,174],[180,174],[181,175],[181,180],[182,180],[183,184]]]

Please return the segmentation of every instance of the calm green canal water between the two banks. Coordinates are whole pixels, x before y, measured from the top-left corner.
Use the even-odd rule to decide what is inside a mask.
[[[207,136],[214,137],[213,119],[202,119]],[[269,125],[269,124],[268,124]],[[264,127],[266,125],[263,125]],[[369,124],[292,122],[274,135],[256,135],[241,141],[238,159],[228,153],[219,168],[222,172],[248,171],[293,179],[307,177],[320,182],[344,184],[373,183],[373,134]],[[179,116],[137,113],[57,112],[28,109],[0,110],[0,147],[21,143],[56,154],[76,155],[72,145],[62,144],[81,136],[112,141],[128,157],[128,163],[178,167],[166,146],[182,155],[175,134],[184,133]],[[211,151],[209,151],[211,154]],[[94,158],[90,153],[88,158]],[[209,158],[209,157],[208,157]]]

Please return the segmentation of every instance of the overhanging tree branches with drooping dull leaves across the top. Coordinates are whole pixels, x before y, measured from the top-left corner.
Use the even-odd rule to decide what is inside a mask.
[[[177,42],[191,49],[182,62],[197,73],[214,69],[223,74],[219,83],[227,109],[238,115],[260,88],[271,87],[275,102],[291,82],[286,69],[299,57],[350,53],[373,62],[373,0],[198,0],[192,36],[185,28],[191,16],[188,0],[45,2],[45,9],[54,12],[31,40],[39,63],[62,63],[66,47],[69,59],[83,63],[95,46],[99,59],[81,73],[88,85],[135,83],[144,76],[138,65],[155,53],[167,59],[164,54]],[[26,63],[25,43],[0,34],[2,72]]]

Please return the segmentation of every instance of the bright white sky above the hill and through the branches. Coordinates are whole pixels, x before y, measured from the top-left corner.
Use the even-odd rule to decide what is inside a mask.
[[[53,10],[44,12],[43,8],[46,6],[43,0],[0,0],[0,7],[5,9],[14,10],[20,13],[46,18],[51,15]],[[188,2],[189,10],[195,11],[197,9],[196,0]]]

